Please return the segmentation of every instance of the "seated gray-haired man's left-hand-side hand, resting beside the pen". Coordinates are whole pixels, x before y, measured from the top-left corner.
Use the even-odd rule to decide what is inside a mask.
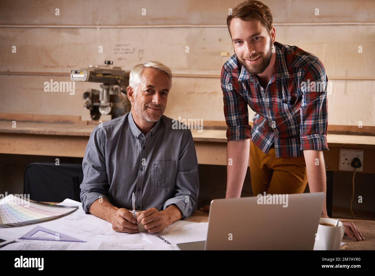
[[[112,223],[112,229],[116,232],[138,233],[137,221],[133,217],[133,213],[125,208],[120,208],[113,213],[110,222]]]

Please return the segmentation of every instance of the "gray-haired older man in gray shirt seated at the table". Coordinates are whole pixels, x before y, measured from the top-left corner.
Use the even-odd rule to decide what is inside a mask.
[[[157,233],[196,208],[199,177],[192,134],[172,129],[172,119],[163,115],[171,85],[171,70],[162,63],[134,66],[127,87],[131,111],[90,135],[82,206],[117,232],[137,233],[141,223]],[[135,207],[144,210],[135,218],[127,210],[133,192]]]

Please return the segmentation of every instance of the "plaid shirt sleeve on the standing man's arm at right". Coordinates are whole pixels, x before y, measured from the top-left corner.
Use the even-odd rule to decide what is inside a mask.
[[[324,65],[318,58],[301,78],[301,150],[328,150],[327,81]]]

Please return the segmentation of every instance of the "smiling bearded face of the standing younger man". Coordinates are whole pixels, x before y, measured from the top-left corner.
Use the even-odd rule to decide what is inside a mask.
[[[269,33],[260,20],[233,18],[230,33],[234,52],[241,65],[252,75],[264,72],[272,58],[275,28]]]

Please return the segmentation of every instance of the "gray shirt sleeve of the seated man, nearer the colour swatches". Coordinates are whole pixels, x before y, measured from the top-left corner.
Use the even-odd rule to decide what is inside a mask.
[[[82,162],[83,181],[80,185],[80,198],[85,213],[98,198],[107,198],[108,177],[105,166],[105,141],[97,126],[90,135]]]

